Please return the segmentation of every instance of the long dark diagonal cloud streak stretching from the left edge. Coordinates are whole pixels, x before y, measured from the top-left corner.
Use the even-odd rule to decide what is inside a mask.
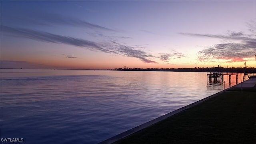
[[[5,32],[13,36],[29,38],[32,40],[38,40],[42,42],[69,44],[72,46],[87,48],[93,51],[99,50],[99,51],[110,53],[110,54],[121,54],[124,56],[139,58],[140,60],[142,60],[142,62],[146,62],[146,63],[157,63],[153,60],[148,59],[150,57],[154,58],[155,56],[148,54],[147,52],[144,52],[142,50],[136,50],[134,46],[125,46],[125,45],[119,44],[118,42],[112,42],[111,44],[104,46],[97,42],[92,42],[89,40],[83,40],[79,38],[73,38],[70,36],[61,36],[57,34],[51,34],[48,32],[41,32],[41,31],[35,31],[35,30],[29,30],[29,29],[23,29],[23,28],[11,28],[3,25],[1,25],[1,32]],[[69,57],[71,58],[72,56],[69,56]]]

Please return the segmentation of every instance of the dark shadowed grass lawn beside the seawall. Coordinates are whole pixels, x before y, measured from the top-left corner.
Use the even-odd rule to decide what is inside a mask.
[[[256,88],[230,89],[114,144],[256,144]]]

